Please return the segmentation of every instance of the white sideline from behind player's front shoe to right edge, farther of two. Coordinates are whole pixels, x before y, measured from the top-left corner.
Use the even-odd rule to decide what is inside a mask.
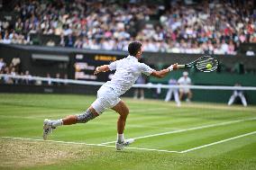
[[[161,136],[161,135],[180,133],[180,132],[189,131],[189,130],[201,130],[201,129],[212,128],[212,127],[216,127],[216,126],[224,126],[224,125],[227,125],[227,124],[233,124],[233,123],[242,122],[242,121],[252,121],[252,120],[256,120],[256,117],[255,118],[249,118],[249,119],[243,119],[243,120],[237,120],[237,121],[225,121],[225,122],[221,122],[221,123],[208,124],[208,125],[198,126],[198,127],[184,129],[184,130],[172,130],[172,131],[167,131],[167,132],[163,132],[163,133],[157,133],[157,134],[137,137],[137,138],[133,138],[133,139],[146,139],[146,138],[157,137],[157,136]],[[112,144],[112,143],[115,143],[115,141],[104,142],[104,143],[101,143],[101,144],[102,145],[107,145],[107,144]]]

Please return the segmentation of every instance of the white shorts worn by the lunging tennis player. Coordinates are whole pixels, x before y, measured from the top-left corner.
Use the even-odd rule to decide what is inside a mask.
[[[92,107],[98,114],[105,112],[106,109],[113,108],[121,99],[114,93],[112,87],[101,86],[97,91],[97,99],[92,103]]]

